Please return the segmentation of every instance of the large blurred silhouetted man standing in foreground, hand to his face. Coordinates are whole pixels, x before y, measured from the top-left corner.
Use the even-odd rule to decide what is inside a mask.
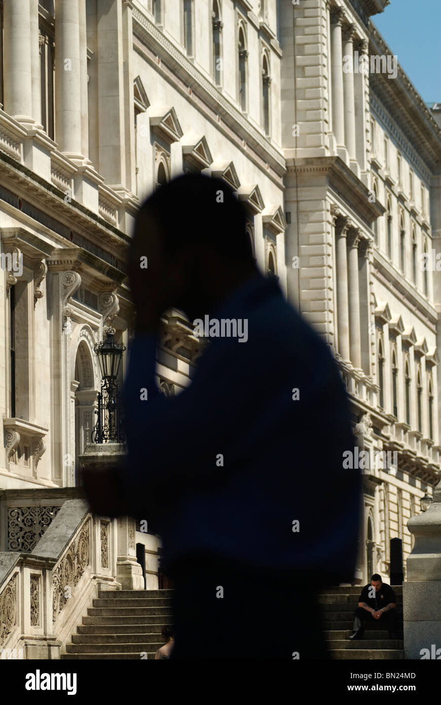
[[[228,185],[204,176],[143,204],[128,462],[105,482],[86,473],[85,486],[97,513],[161,535],[172,658],[325,658],[316,593],[352,581],[359,529],[359,473],[342,468],[354,446],[347,399],[325,343],[257,269],[245,226]],[[208,344],[190,386],[165,398],[155,361],[170,307]]]

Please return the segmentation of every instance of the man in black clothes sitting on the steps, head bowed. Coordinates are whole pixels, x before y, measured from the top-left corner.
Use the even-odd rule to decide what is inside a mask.
[[[395,604],[395,592],[390,585],[382,582],[380,575],[371,577],[371,584],[365,585],[359,596],[359,606],[354,615],[354,626],[349,639],[361,639],[364,635],[364,620],[373,622],[381,620],[387,624],[391,639],[398,639],[398,613]]]

